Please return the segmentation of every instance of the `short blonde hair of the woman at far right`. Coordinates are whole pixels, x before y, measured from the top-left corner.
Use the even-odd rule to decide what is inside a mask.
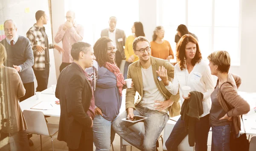
[[[228,73],[231,60],[227,51],[214,51],[207,57],[207,59],[212,62],[212,64],[218,66],[218,71],[221,73]]]

